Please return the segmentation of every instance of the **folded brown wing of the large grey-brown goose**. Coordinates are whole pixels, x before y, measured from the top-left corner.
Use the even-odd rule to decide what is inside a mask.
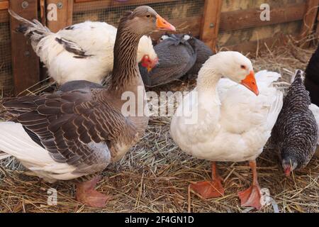
[[[38,135],[57,162],[88,171],[90,165],[103,167],[101,150],[108,149],[107,143],[116,143],[123,132],[130,137],[126,139],[135,137],[133,124],[107,101],[98,101],[103,100],[101,95],[74,91],[25,96],[5,102],[4,107]]]

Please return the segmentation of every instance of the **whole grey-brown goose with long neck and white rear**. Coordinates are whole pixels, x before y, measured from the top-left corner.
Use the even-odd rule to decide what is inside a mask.
[[[145,132],[148,116],[123,115],[121,95],[130,92],[137,99],[138,90],[145,92],[136,60],[138,42],[157,29],[175,30],[149,6],[125,13],[116,35],[109,89],[82,87],[5,102],[15,121],[0,123],[0,150],[50,182],[80,178],[77,200],[105,206],[108,197],[94,190],[96,173],[123,157]],[[84,176],[89,181],[81,182]]]

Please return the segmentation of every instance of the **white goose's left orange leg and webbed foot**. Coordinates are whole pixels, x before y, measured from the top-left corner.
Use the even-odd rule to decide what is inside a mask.
[[[224,195],[224,188],[221,184],[222,178],[218,175],[216,162],[211,163],[211,178],[210,182],[197,182],[191,184],[191,190],[201,195],[203,199],[216,198]]]

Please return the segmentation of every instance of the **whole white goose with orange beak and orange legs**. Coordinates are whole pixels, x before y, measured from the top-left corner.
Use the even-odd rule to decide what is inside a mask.
[[[216,162],[248,160],[252,187],[239,196],[242,206],[262,207],[255,160],[282,107],[282,93],[272,86],[279,77],[262,71],[256,82],[252,62],[239,52],[219,52],[199,71],[196,89],[184,97],[172,119],[171,134],[185,153],[212,161],[212,181],[191,184],[204,199],[224,194]]]

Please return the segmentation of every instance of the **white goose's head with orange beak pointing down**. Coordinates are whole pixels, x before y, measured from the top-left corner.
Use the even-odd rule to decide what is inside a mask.
[[[209,83],[212,79],[212,73],[220,77],[227,77],[233,82],[247,87],[254,94],[259,94],[252,62],[240,52],[225,51],[211,56],[201,68],[198,74],[198,82],[202,80]]]

